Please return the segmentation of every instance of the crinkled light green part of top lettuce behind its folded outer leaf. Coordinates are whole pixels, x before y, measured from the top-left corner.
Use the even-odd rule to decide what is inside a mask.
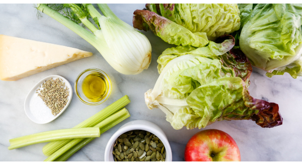
[[[240,28],[237,4],[146,4],[146,9],[211,39]]]

